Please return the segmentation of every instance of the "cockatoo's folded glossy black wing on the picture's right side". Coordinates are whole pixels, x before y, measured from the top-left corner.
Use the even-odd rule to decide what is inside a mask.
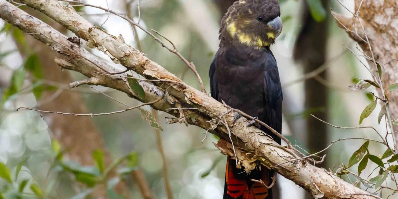
[[[264,110],[264,122],[269,124],[275,131],[281,133],[282,130],[282,86],[281,81],[279,80],[279,72],[275,57],[269,51],[269,56],[267,62],[265,63],[265,71],[264,71],[264,102],[265,102],[265,110]],[[281,143],[281,139],[278,138],[275,134],[271,133],[265,127],[261,127],[261,130],[271,135],[271,137],[278,142]]]

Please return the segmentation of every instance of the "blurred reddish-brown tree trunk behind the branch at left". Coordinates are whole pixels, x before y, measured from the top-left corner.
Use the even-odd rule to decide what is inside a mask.
[[[27,9],[26,12],[37,18],[47,18],[47,16],[35,10]],[[47,23],[60,32],[65,33],[67,31],[66,28],[51,19]],[[61,68],[55,64],[54,58],[59,56],[56,51],[51,50],[48,46],[37,41],[30,35],[25,36],[25,41],[32,48],[31,50],[39,56],[44,80],[65,85],[73,82],[69,72],[67,70],[61,71]],[[22,47],[19,46],[19,49],[24,53]],[[58,91],[43,92],[38,101],[38,108],[66,113],[89,112],[79,92],[71,90],[62,90],[60,94],[56,94],[56,92]],[[111,156],[106,149],[103,137],[96,129],[91,117],[75,117],[51,113],[42,115],[53,133],[53,139],[58,140],[64,148],[64,156],[66,158],[85,166],[93,166],[95,163],[92,152],[99,149],[104,153],[105,165],[111,164]],[[115,189],[118,193],[127,195],[127,187],[124,183],[119,183]],[[106,187],[102,185],[98,186],[93,195],[96,198],[106,198]]]

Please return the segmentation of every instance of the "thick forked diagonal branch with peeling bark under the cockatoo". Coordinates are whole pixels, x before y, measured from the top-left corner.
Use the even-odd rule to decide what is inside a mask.
[[[2,19],[62,54],[62,58],[57,59],[57,62],[64,68],[87,76],[89,79],[83,81],[85,84],[114,88],[144,103],[164,96],[162,100],[151,104],[151,106],[174,115],[176,119],[173,122],[179,121],[209,129],[210,133],[221,137],[219,143],[216,144],[217,148],[224,154],[234,156],[232,144],[225,141],[230,140],[228,133],[232,133],[231,140],[234,142],[236,158],[240,163],[238,166],[253,168],[255,163],[260,163],[273,168],[279,174],[306,189],[315,198],[379,198],[343,181],[332,172],[300,160],[301,157],[295,150],[280,146],[256,127],[246,127],[249,121],[244,117],[232,124],[234,113],[231,109],[207,94],[188,86],[158,63],[127,45],[123,37],[109,35],[82,18],[72,8],[61,5],[57,0],[22,0],[21,2],[59,22],[78,37],[88,41],[89,47],[96,47],[103,51],[115,62],[120,62],[126,68],[134,70],[149,80],[162,80],[152,83],[139,81],[145,91],[143,99],[129,87],[125,78],[104,74],[104,71],[119,72],[115,68],[99,60],[83,47],[68,41],[64,35],[49,25],[23,12],[6,0],[0,0],[0,17]],[[219,119],[226,121],[230,127],[213,126],[214,123],[209,122]]]

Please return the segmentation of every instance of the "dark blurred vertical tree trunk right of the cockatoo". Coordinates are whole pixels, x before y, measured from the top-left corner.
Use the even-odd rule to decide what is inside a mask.
[[[323,0],[324,8],[327,8],[327,0]],[[311,72],[322,66],[326,60],[326,44],[328,38],[327,18],[322,22],[315,21],[310,13],[308,3],[302,1],[302,29],[297,37],[294,49],[294,59],[301,62],[304,67],[304,74]],[[327,77],[327,71],[319,74],[321,78]],[[319,110],[315,114],[321,119],[328,117],[328,88],[316,81],[314,78],[305,80],[305,110]],[[310,153],[318,152],[327,145],[326,124],[310,117],[306,120],[306,146]],[[318,165],[326,167],[326,160]],[[307,194],[306,198],[312,198]]]

